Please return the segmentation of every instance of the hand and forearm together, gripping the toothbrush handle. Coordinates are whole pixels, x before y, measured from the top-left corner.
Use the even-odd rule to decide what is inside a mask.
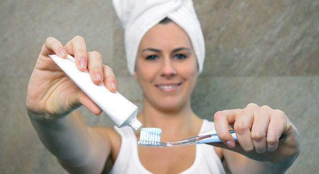
[[[244,109],[225,110],[214,116],[217,134],[223,143],[223,156],[232,173],[281,174],[300,153],[300,138],[295,126],[279,110],[248,104]],[[236,132],[235,143],[228,125]],[[279,140],[281,134],[286,139]]]

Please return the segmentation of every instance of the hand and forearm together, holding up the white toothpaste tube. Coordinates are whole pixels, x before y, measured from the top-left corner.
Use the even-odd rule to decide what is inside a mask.
[[[48,38],[28,85],[28,115],[46,148],[70,173],[99,173],[111,150],[109,139],[88,128],[82,116],[71,112],[82,104],[96,115],[102,111],[48,57],[50,54],[61,58],[74,55],[76,67],[80,71],[88,67],[92,82],[104,82],[110,91],[116,90],[114,73],[102,65],[101,55],[86,51],[82,37],[76,36],[65,47],[55,38]]]

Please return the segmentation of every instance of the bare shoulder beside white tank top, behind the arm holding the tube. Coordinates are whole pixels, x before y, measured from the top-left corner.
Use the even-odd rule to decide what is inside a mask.
[[[112,160],[115,161],[117,158],[119,152],[120,152],[120,147],[121,147],[121,135],[114,130],[114,128],[110,127],[91,127],[94,131],[98,132],[105,140],[106,142],[109,142],[111,145],[111,156]]]

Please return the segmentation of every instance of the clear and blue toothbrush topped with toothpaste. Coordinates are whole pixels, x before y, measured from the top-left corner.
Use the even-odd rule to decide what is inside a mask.
[[[222,142],[216,131],[208,131],[199,133],[197,136],[187,138],[176,142],[160,142],[162,130],[159,128],[142,128],[138,145],[154,146],[154,147],[174,147],[181,145],[194,145],[203,143],[217,143]],[[231,136],[237,141],[236,133],[234,130],[229,131]],[[279,139],[286,139],[287,135],[282,134]]]

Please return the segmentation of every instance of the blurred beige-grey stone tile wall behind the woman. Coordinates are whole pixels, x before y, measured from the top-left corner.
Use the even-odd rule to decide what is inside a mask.
[[[269,105],[289,116],[302,150],[287,174],[319,172],[319,0],[194,0],[206,43],[193,110]],[[123,31],[111,0],[0,0],[0,173],[64,174],[26,113],[28,80],[46,38],[83,36],[113,68],[118,91],[141,107],[126,68]],[[89,126],[112,126],[79,108]]]

